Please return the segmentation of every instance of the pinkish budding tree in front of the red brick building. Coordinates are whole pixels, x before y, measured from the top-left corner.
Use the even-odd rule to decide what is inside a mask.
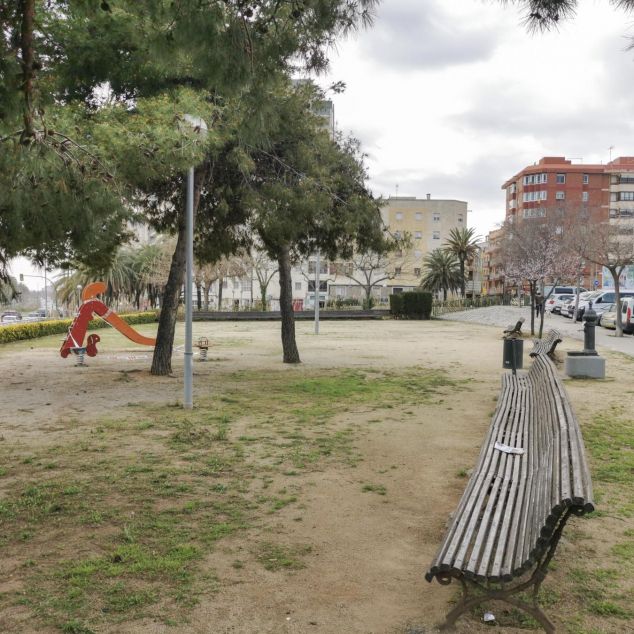
[[[554,289],[562,280],[573,279],[578,271],[579,257],[564,240],[561,222],[555,210],[545,209],[543,216],[507,221],[503,225],[501,250],[504,275],[507,279],[529,284],[532,335],[535,334],[535,297],[538,288],[543,287],[544,281],[550,280]],[[546,299],[543,298],[543,301]],[[540,312],[541,337],[544,329],[543,309]]]

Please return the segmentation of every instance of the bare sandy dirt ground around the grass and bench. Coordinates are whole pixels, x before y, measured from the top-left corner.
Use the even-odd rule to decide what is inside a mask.
[[[221,589],[202,598],[189,623],[145,620],[113,625],[108,632],[436,631],[456,589],[429,584],[423,575],[466,484],[459,473],[474,465],[495,408],[503,372],[500,330],[442,321],[322,322],[319,336],[312,328],[310,323],[297,325],[303,363],[285,372],[301,376],[316,369],[421,367],[444,370],[460,386],[421,406],[371,414],[360,406],[342,415],[342,426],[354,422],[363,427],[354,442],[362,457],[358,466],[312,474],[319,486],[308,487],[303,496],[302,521],[293,521],[296,511],[288,508],[266,527],[289,543],[312,545],[304,569],[284,574],[236,569],[232,562],[245,546],[228,540],[209,562],[223,579]],[[54,337],[0,347],[0,441],[5,447],[64,443],[100,417],[129,415],[128,403],[167,405],[181,399],[182,350],[175,353],[175,375],[156,378],[148,372],[151,353],[146,348],[127,344],[113,332],[100,335],[100,354],[88,359],[86,368],[61,359]],[[283,367],[276,323],[196,323],[194,336],[200,335],[209,337],[212,348],[210,362],[195,365],[195,400],[213,395],[214,385],[231,381],[236,370]],[[180,330],[176,343],[182,345]],[[561,347],[568,346],[577,348],[578,342]],[[582,426],[614,398],[615,384],[623,386],[616,391],[630,406],[634,400],[627,389],[633,360],[609,352],[606,357],[606,381],[566,383]],[[369,425],[370,417],[380,420]],[[363,482],[380,482],[388,494],[360,494]],[[604,521],[595,548],[609,547],[611,520]],[[557,557],[567,556],[564,543]],[[555,619],[557,611],[550,610]],[[19,631],[49,631],[33,627],[25,622]],[[634,631],[628,627],[624,623],[622,631]],[[458,632],[485,629],[470,619],[459,624]]]

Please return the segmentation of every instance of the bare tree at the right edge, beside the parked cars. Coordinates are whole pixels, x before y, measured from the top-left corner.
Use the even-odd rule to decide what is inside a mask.
[[[634,264],[634,223],[629,219],[576,223],[570,231],[570,243],[580,257],[610,271],[614,280],[616,336],[622,337],[620,278],[625,268]]]

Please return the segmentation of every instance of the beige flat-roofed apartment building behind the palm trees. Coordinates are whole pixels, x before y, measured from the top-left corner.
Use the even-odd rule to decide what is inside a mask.
[[[381,211],[383,222],[396,236],[409,235],[411,248],[391,256],[393,279],[386,285],[392,292],[411,290],[420,284],[423,258],[441,248],[455,227],[467,226],[467,203],[461,200],[395,196],[387,199]]]

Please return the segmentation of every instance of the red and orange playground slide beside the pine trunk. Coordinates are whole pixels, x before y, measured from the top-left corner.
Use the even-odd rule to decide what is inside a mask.
[[[103,282],[94,282],[86,285],[81,294],[82,305],[79,312],[73,320],[71,327],[68,329],[66,339],[62,343],[59,351],[62,358],[66,358],[71,352],[77,356],[77,365],[85,365],[85,355],[94,357],[97,355],[97,343],[101,341],[99,335],[89,335],[84,345],[84,338],[88,330],[88,324],[93,315],[98,315],[104,321],[108,322],[113,328],[118,330],[123,336],[145,346],[156,345],[156,339],[144,337],[138,333],[132,326],[127,324],[117,313],[109,309],[101,300],[96,299],[97,295],[105,293],[106,285]]]

